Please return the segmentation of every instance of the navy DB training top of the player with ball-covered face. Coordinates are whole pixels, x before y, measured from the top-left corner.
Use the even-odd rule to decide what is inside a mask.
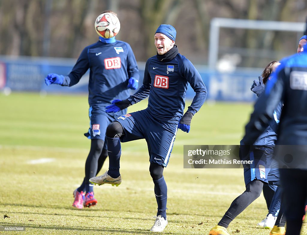
[[[139,79],[138,66],[130,45],[123,41],[97,41],[81,52],[72,72],[65,76],[63,86],[77,84],[90,69],[88,103],[107,106],[114,99],[124,100],[130,95],[130,77]]]

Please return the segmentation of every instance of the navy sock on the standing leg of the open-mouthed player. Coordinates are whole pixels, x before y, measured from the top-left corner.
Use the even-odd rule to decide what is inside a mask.
[[[167,186],[164,177],[153,180],[154,183],[154,193],[156,195],[156,200],[158,204],[157,216],[161,215],[166,219],[166,202],[167,202]]]

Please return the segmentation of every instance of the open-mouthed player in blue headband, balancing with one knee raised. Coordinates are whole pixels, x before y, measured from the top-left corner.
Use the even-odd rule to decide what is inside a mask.
[[[199,72],[187,58],[178,53],[175,39],[176,29],[172,25],[160,25],[154,35],[157,55],[146,62],[142,87],[128,99],[114,100],[107,107],[108,113],[119,112],[149,96],[146,109],[122,115],[107,127],[109,170],[90,179],[95,184],[109,183],[118,186],[122,181],[119,173],[120,142],[145,139],[148,145],[149,171],[158,205],[157,216],[154,216],[156,221],[150,229],[153,232],[163,231],[168,224],[167,186],[163,170],[169,163],[177,128],[190,131],[192,117],[207,96],[207,89]],[[188,83],[196,95],[183,114]]]

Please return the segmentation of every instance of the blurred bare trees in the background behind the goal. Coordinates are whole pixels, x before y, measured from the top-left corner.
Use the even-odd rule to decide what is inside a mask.
[[[303,0],[0,0],[0,53],[76,58],[86,45],[97,41],[94,21],[107,8],[115,10],[121,20],[117,39],[127,41],[139,61],[156,53],[153,35],[157,27],[172,24],[180,52],[205,64],[213,17],[305,22],[307,4]],[[220,46],[225,53],[242,52],[242,65],[262,67],[267,61],[259,60],[255,52],[279,59],[279,53],[295,52],[293,41],[299,36],[223,29]]]

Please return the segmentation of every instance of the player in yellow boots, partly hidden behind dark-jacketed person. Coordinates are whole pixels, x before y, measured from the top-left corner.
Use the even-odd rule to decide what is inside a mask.
[[[270,79],[272,71],[278,65],[280,65],[278,61],[271,61],[263,70],[262,76],[259,77],[259,82],[256,80],[254,81],[251,90],[255,92],[257,96],[262,94],[264,85]],[[274,120],[266,126],[265,131],[263,131],[261,135],[258,135],[253,146],[245,146],[243,140],[241,140],[240,159],[254,160],[253,165],[243,165],[246,190],[239,197],[235,198],[220,222],[210,230],[209,235],[229,235],[227,232],[228,225],[260,196],[263,185],[269,182],[273,185],[278,185],[278,165],[274,164],[273,151],[275,141],[277,140],[276,132],[281,109],[282,103],[280,102],[274,111]],[[274,226],[277,216],[276,213],[280,205],[279,197],[280,194],[276,194],[275,202],[269,207],[269,213],[264,221],[265,226]]]

